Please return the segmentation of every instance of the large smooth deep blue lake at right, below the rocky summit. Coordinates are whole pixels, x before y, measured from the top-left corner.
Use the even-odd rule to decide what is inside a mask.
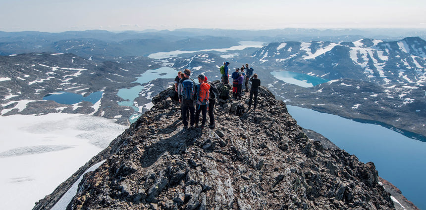
[[[426,142],[383,126],[296,106],[287,107],[300,126],[321,133],[364,163],[373,162],[379,176],[401,189],[417,207],[426,209]]]

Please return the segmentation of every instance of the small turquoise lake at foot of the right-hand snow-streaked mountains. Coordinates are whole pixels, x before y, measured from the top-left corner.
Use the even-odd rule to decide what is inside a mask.
[[[314,77],[307,74],[301,74],[288,71],[273,71],[270,73],[276,79],[282,80],[288,84],[296,84],[302,87],[313,87],[318,84],[326,83],[328,80],[320,77]]]

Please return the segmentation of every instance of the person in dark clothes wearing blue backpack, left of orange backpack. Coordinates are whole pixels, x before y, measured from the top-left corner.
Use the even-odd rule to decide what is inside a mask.
[[[179,102],[182,106],[182,123],[184,128],[188,128],[188,117],[186,113],[190,112],[191,127],[195,124],[195,108],[194,108],[194,90],[195,82],[189,76],[191,70],[185,69],[184,78],[179,81],[177,92],[179,94]]]

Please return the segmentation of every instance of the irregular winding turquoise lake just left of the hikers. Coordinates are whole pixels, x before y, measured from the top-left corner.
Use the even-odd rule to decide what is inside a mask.
[[[174,79],[177,76],[177,72],[178,71],[170,67],[150,69],[141,74],[140,77],[137,77],[137,80],[133,82],[139,83],[141,85],[136,85],[132,88],[122,88],[118,90],[117,95],[124,99],[123,101],[118,102],[118,105],[130,106],[133,108],[133,110],[135,110],[135,113],[129,118],[130,123],[134,123],[142,115],[142,113],[139,112],[139,107],[136,107],[134,102],[135,98],[139,96],[139,94],[144,90],[146,86],[142,84],[147,84],[159,78]],[[170,80],[170,82],[173,82],[173,80]],[[143,106],[143,104],[139,104],[138,106]]]

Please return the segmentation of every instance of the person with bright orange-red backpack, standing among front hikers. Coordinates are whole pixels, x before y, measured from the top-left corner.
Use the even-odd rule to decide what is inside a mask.
[[[198,75],[198,82],[195,86],[196,93],[196,110],[195,110],[195,127],[203,128],[206,124],[206,114],[207,114],[207,105],[209,105],[210,98],[210,84],[205,83],[204,80],[206,77],[204,75]],[[200,112],[203,114],[203,120],[201,121],[201,126],[198,126],[200,120]]]

